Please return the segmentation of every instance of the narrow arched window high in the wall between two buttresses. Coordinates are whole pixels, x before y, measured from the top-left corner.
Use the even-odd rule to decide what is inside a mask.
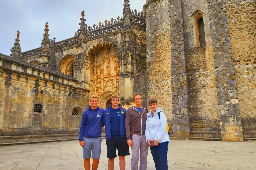
[[[194,23],[193,24],[194,47],[206,45],[205,34],[204,34],[204,19],[203,19],[202,11],[197,10],[192,14],[192,23]]]

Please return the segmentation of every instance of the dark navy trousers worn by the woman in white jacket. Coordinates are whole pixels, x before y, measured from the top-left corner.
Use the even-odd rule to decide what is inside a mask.
[[[159,143],[158,146],[149,146],[156,170],[168,170],[167,151],[169,142]]]

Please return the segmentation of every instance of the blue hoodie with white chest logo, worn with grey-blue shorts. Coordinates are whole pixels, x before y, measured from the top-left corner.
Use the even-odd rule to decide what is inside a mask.
[[[79,131],[80,142],[84,140],[83,137],[101,136],[101,128],[104,126],[103,111],[104,109],[98,106],[95,110],[89,106],[83,112]]]

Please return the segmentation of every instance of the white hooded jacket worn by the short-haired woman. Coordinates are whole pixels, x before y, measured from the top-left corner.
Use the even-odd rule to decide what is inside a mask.
[[[158,114],[160,113],[160,119]],[[167,118],[161,108],[157,108],[154,116],[152,117],[152,111],[148,112],[149,118],[146,122],[146,141],[148,139],[157,140],[159,143],[170,141],[170,137],[166,130]]]

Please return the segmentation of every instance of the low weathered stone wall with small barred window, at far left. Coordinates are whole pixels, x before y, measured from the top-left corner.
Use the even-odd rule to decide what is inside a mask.
[[[0,135],[78,133],[81,116],[71,114],[75,106],[85,110],[88,90],[61,73],[8,56],[0,60],[0,80],[5,83]],[[42,113],[34,112],[35,104],[43,105]]]

